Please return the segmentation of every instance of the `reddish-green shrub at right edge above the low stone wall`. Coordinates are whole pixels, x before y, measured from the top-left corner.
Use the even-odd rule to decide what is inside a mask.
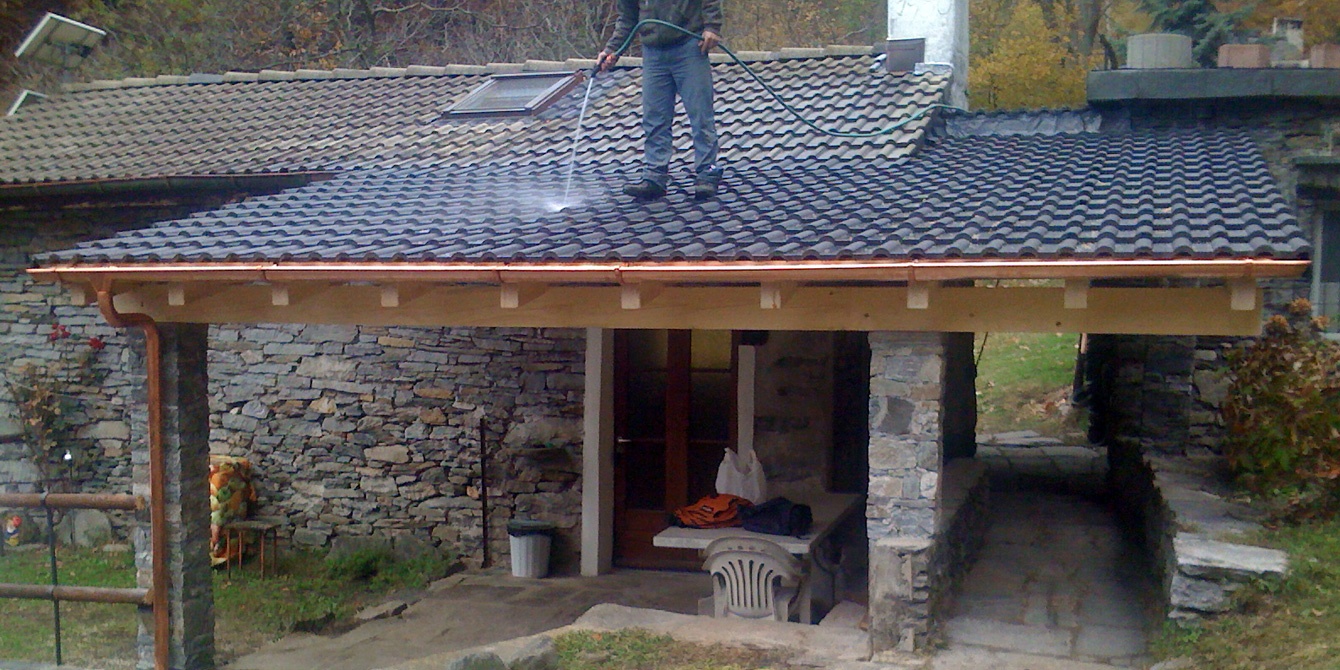
[[[1227,458],[1256,492],[1284,493],[1290,513],[1340,509],[1340,346],[1306,300],[1273,316],[1229,356]]]

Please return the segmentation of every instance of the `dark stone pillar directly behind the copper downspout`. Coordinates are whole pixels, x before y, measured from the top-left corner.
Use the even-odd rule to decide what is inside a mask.
[[[163,453],[168,504],[168,603],[173,669],[214,667],[214,592],[209,565],[209,395],[204,324],[162,324]],[[141,339],[141,342],[143,342]],[[147,398],[141,399],[146,406]],[[141,414],[143,417],[143,414]],[[137,441],[134,490],[149,497],[149,445]],[[153,583],[149,512],[135,524],[139,586]],[[153,667],[153,610],[139,611],[139,665]]]

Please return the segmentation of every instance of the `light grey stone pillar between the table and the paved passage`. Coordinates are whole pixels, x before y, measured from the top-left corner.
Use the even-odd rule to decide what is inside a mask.
[[[870,334],[870,636],[911,651],[930,632],[946,346],[938,332]]]

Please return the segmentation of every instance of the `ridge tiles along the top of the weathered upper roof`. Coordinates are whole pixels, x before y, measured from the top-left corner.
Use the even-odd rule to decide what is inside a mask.
[[[829,44],[825,47],[785,47],[776,51],[737,51],[740,60],[746,63],[766,60],[793,60],[804,58],[864,56],[879,54],[879,47],[855,44]],[[712,54],[713,63],[729,63],[724,52]],[[616,67],[641,67],[641,58],[626,56]],[[257,72],[228,71],[224,74],[190,74],[127,76],[123,79],[94,79],[91,82],[63,83],[66,92],[102,91],[110,88],[139,88],[146,86],[204,84],[232,82],[285,82],[315,79],[379,79],[397,76],[442,76],[442,75],[488,75],[517,72],[563,72],[568,70],[590,70],[595,67],[594,58],[570,58],[567,60],[528,59],[521,63],[448,64],[448,66],[407,66],[370,67],[366,70],[336,67],[331,70],[260,70]]]

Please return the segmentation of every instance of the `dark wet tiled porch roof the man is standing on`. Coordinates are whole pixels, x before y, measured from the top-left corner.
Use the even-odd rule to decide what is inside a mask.
[[[632,202],[616,194],[630,170],[582,165],[563,210],[556,169],[354,170],[46,260],[1300,259],[1309,249],[1260,150],[1234,131],[972,137],[915,157],[744,162],[710,202],[682,190]]]

